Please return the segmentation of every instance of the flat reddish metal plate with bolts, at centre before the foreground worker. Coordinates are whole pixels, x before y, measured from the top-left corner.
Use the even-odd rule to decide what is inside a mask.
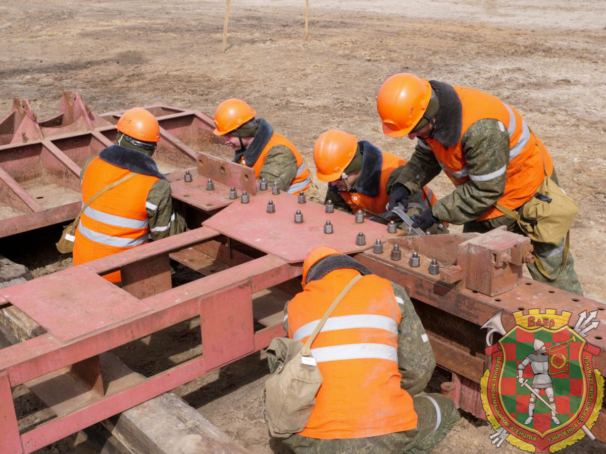
[[[267,212],[267,202],[273,200],[276,212]],[[295,212],[301,210],[302,223],[295,223]],[[325,234],[324,223],[330,220],[335,233]],[[302,262],[316,246],[332,246],[345,254],[372,248],[377,238],[393,237],[387,226],[365,221],[358,224],[355,217],[342,211],[324,212],[324,205],[298,203],[297,197],[287,192],[271,194],[259,191],[250,203],[236,201],[204,222],[229,237],[238,239],[267,254],[281,257],[288,263]],[[356,235],[364,232],[367,244],[356,245]]]

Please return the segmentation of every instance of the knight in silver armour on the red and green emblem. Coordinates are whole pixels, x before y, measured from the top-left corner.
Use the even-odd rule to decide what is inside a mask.
[[[555,343],[554,346],[558,346],[559,343]],[[538,393],[541,393],[541,389],[545,390],[545,395],[553,408],[556,407],[556,398],[553,396],[553,382],[551,381],[551,375],[549,375],[549,355],[547,354],[547,347],[541,340],[535,339],[533,343],[534,353],[531,353],[524,361],[518,364],[518,382],[524,383],[524,369],[530,364],[532,371],[534,372],[534,378],[532,381],[532,388],[536,389]],[[536,395],[530,395],[530,401],[528,402],[528,418],[524,421],[525,426],[528,426],[533,420],[534,406],[536,404]],[[559,424],[560,421],[556,418],[556,412],[551,410],[551,420],[554,424]]]

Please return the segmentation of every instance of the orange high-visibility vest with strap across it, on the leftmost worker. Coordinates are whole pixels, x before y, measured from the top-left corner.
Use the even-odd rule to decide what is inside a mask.
[[[82,178],[82,204],[129,171],[95,157]],[[74,265],[91,262],[147,243],[147,194],[158,177],[137,174],[104,192],[87,206],[76,229]],[[121,282],[119,271],[104,275]]]

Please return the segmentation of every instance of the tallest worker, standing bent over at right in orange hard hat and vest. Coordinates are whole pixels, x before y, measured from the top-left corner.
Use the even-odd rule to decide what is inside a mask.
[[[421,213],[415,224],[420,228],[440,220],[463,224],[464,232],[507,226],[524,234],[495,204],[521,214],[541,186],[545,169],[558,183],[539,137],[518,111],[490,94],[401,73],[382,85],[377,110],[387,136],[417,139],[391,194],[405,205],[410,194],[442,170],[456,186]],[[582,295],[567,245],[565,239],[559,245],[533,241],[537,260],[527,265],[528,271],[536,280]]]

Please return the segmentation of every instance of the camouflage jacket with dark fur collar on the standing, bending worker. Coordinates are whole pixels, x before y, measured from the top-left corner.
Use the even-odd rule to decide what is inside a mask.
[[[499,127],[496,119],[485,118],[473,123],[462,136],[462,106],[456,91],[443,82],[430,81],[439,99],[433,139],[445,147],[454,146],[461,138],[461,146],[468,172],[486,175],[507,166],[509,161],[509,134]],[[418,191],[436,177],[442,168],[428,143],[418,138],[413,155],[402,169],[397,182],[411,192]],[[468,180],[456,186],[453,192],[433,206],[433,215],[452,224],[463,224],[478,219],[490,206],[501,199],[506,174],[487,181]]]

